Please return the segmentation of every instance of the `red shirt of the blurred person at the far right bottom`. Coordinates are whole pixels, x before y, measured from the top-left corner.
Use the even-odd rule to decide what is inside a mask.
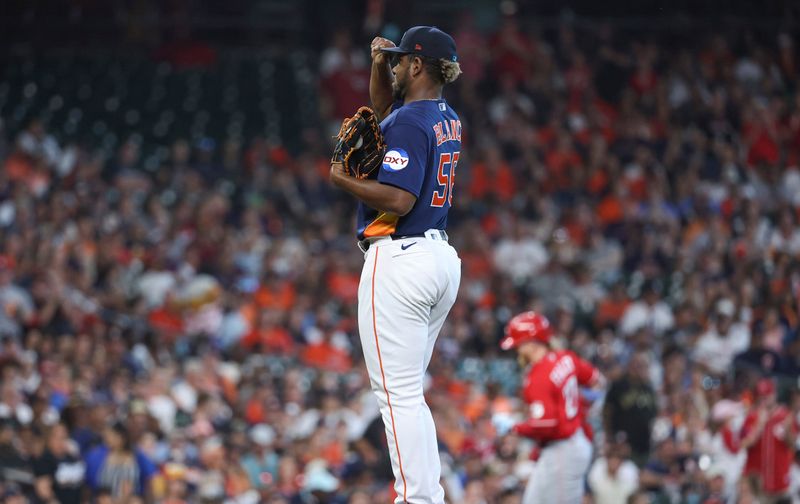
[[[755,474],[761,478],[764,491],[784,492],[789,488],[789,469],[794,458],[794,450],[786,444],[786,417],[789,410],[779,406],[767,420],[761,437],[747,450],[746,475]],[[758,421],[758,412],[753,410],[742,425],[741,438],[753,429]],[[792,426],[796,429],[796,426]]]

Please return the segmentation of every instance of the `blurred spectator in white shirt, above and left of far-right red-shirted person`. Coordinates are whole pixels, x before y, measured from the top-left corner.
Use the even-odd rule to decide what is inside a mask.
[[[710,372],[724,375],[733,358],[750,346],[750,329],[736,322],[736,307],[730,299],[717,301],[715,311],[715,323],[697,341],[694,360]]]

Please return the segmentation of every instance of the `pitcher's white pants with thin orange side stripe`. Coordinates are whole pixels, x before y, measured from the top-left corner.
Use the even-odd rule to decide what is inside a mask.
[[[358,328],[395,476],[395,503],[442,504],[436,427],[423,378],[453,306],[461,260],[432,237],[379,239],[364,255]]]

